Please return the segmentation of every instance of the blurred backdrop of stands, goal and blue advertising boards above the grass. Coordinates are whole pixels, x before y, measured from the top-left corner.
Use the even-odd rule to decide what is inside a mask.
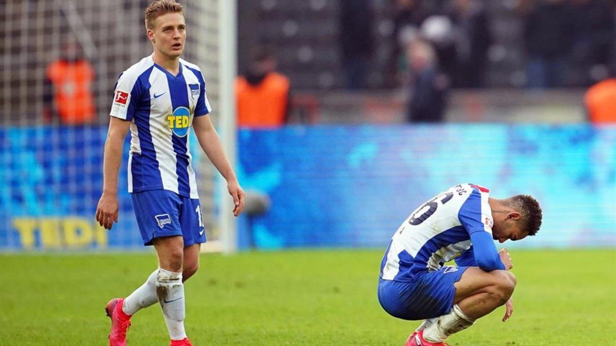
[[[513,246],[616,247],[616,1],[180,2],[249,193],[225,223],[194,148],[207,251],[384,249],[461,182],[540,201],[541,231]],[[94,211],[115,81],[152,52],[147,4],[2,2],[2,251],[143,248],[128,142],[120,222]]]

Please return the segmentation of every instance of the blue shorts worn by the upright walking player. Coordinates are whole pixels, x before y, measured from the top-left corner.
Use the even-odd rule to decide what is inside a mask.
[[[184,237],[184,246],[206,242],[199,199],[167,190],[131,193],[131,198],[144,245],[152,245],[154,238],[174,235]]]

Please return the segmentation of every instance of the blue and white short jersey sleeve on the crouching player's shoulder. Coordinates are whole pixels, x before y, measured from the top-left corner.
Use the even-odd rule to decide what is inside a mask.
[[[477,188],[473,188],[471,195],[460,207],[458,219],[469,235],[477,231],[485,231],[492,235],[493,220],[490,205],[487,198],[481,198]]]

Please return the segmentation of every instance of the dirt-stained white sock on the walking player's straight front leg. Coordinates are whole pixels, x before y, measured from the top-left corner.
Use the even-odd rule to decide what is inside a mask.
[[[182,340],[186,337],[184,331],[184,284],[182,273],[169,272],[160,268],[156,275],[156,296],[163,308],[164,321],[171,340]]]

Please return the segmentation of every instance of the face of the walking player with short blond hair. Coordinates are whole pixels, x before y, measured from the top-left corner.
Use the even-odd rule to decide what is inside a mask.
[[[154,21],[154,28],[148,37],[153,38],[154,49],[162,54],[176,58],[182,55],[186,42],[186,23],[179,13],[163,14]]]

